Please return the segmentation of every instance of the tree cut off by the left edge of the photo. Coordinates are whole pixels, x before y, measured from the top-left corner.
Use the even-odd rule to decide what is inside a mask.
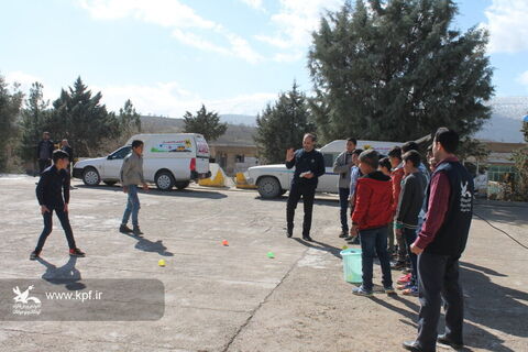
[[[23,99],[19,87],[15,84],[11,91],[0,75],[0,170],[6,170],[13,152],[13,141],[18,132],[15,121]]]

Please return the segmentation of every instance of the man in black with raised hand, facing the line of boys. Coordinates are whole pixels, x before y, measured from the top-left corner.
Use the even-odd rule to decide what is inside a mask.
[[[294,234],[295,208],[302,197],[305,205],[305,219],[302,221],[302,239],[312,241],[310,238],[311,212],[318,178],[324,175],[324,160],[322,154],[315,150],[316,136],[311,133],[305,134],[302,148],[294,152],[289,148],[286,153],[286,167],[295,166],[294,177],[289,188],[288,204],[286,207],[287,237]]]

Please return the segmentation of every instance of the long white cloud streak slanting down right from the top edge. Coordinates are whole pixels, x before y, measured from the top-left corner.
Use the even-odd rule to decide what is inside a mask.
[[[178,0],[80,0],[79,3],[98,20],[133,18],[170,29],[173,37],[185,45],[239,57],[251,64],[263,59],[243,37],[230,32],[221,24],[201,18],[195,10]],[[216,36],[217,42],[206,40],[196,32],[204,32],[207,37]],[[224,45],[218,42],[223,42]]]

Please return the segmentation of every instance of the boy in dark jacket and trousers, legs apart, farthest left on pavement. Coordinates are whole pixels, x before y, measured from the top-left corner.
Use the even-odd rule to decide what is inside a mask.
[[[53,165],[42,172],[41,179],[36,186],[36,198],[38,199],[41,213],[44,218],[44,230],[38,238],[35,250],[30,255],[30,260],[32,261],[41,255],[44,243],[50,233],[52,233],[53,211],[56,212],[61,226],[66,233],[69,255],[85,256],[85,253],[75,244],[74,232],[72,231],[68,219],[69,174],[66,167],[69,164],[69,155],[64,151],[55,151],[52,154],[52,160]]]

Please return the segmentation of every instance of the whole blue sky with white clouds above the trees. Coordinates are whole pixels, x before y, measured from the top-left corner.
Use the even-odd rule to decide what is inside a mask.
[[[310,32],[338,0],[1,1],[0,74],[58,97],[77,76],[111,110],[180,118],[201,103],[256,114],[294,79],[308,94]],[[528,0],[460,0],[455,26],[486,26],[497,97],[528,96]]]

